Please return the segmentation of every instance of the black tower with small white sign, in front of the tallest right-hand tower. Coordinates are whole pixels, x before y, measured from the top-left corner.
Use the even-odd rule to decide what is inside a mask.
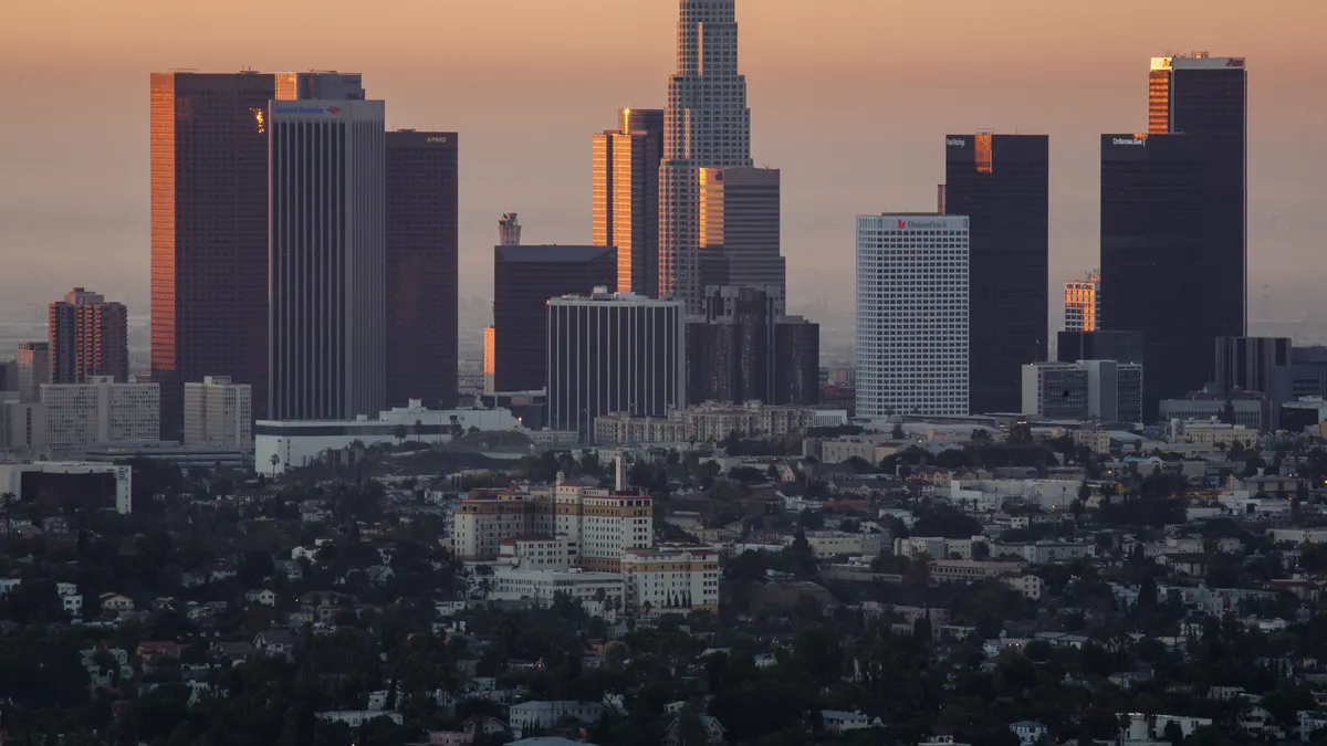
[[[1101,135],[1101,325],[1140,332],[1144,415],[1210,381],[1226,335],[1225,296],[1212,284],[1210,211],[1201,142],[1182,134]],[[1100,353],[1099,353],[1100,354]]]

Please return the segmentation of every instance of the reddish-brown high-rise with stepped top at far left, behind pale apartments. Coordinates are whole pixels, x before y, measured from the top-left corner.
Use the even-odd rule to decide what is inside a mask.
[[[84,288],[52,303],[48,317],[52,384],[82,384],[92,376],[129,381],[129,309]]]

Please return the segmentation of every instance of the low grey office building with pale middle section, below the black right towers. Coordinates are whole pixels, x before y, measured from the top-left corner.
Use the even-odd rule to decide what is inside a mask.
[[[1143,421],[1143,366],[1113,360],[1023,366],[1023,414],[1046,419]]]

